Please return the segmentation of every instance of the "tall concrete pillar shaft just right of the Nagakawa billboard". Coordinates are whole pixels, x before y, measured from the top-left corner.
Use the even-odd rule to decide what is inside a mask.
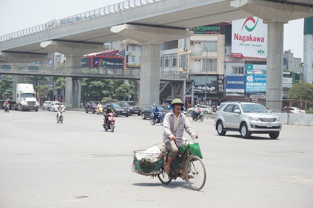
[[[266,105],[281,112],[283,101],[284,23],[268,22]]]

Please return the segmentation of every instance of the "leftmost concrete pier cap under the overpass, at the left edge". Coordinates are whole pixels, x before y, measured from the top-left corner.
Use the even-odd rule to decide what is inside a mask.
[[[11,53],[0,51],[0,61],[9,63],[31,63],[48,59],[45,54]]]

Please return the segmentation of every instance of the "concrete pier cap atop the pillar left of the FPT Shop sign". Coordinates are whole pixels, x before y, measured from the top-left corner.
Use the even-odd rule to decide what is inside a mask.
[[[109,49],[108,45],[90,44],[78,42],[63,42],[63,41],[45,41],[41,42],[40,46],[47,48],[52,52],[58,52],[65,56],[80,56],[85,54],[96,53]]]

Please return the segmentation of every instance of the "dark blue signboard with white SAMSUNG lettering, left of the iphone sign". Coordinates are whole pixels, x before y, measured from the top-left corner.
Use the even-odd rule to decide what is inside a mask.
[[[225,89],[231,93],[245,93],[245,76],[226,76]]]

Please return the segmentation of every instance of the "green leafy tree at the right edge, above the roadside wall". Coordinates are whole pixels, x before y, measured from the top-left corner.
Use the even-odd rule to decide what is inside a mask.
[[[293,84],[287,96],[295,101],[313,101],[313,84],[303,81]]]

